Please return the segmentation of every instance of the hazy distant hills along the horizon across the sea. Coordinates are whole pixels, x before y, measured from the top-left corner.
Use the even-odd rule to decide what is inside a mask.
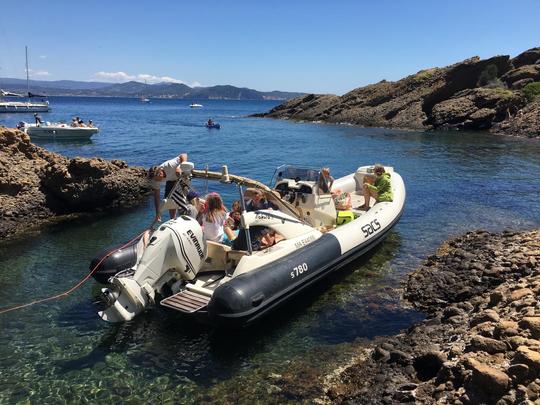
[[[0,88],[14,93],[25,93],[26,80],[0,78]],[[144,95],[149,98],[203,100],[289,100],[304,94],[285,91],[262,92],[230,85],[189,87],[182,83],[145,84],[130,81],[111,84],[75,80],[30,80],[30,91],[48,96],[140,97]]]

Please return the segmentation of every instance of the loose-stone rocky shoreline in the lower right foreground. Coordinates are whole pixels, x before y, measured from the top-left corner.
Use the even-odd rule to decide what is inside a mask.
[[[456,238],[408,277],[427,318],[361,349],[318,402],[538,403],[539,296],[540,229]]]

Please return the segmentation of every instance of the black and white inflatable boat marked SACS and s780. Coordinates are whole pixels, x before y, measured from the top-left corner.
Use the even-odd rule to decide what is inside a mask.
[[[346,210],[338,210],[335,196],[319,190],[316,169],[282,166],[273,188],[229,174],[226,166],[220,173],[194,170],[184,162],[181,169],[187,181],[237,185],[244,205],[237,240],[232,247],[205,240],[199,223],[181,215],[121,249],[100,253],[91,269],[98,280],[110,277],[101,294],[103,320],[129,321],[159,305],[216,325],[250,324],[371,251],[397,223],[405,204],[405,185],[392,167],[385,170],[391,175],[393,201],[371,199],[368,211],[359,206],[364,178],[372,176],[373,166],[334,181],[333,190],[349,195]],[[243,187],[249,188],[244,192]],[[253,189],[275,209],[246,212],[245,197]],[[161,210],[173,207],[169,203],[164,200]],[[251,241],[263,229],[282,240],[257,250]]]

